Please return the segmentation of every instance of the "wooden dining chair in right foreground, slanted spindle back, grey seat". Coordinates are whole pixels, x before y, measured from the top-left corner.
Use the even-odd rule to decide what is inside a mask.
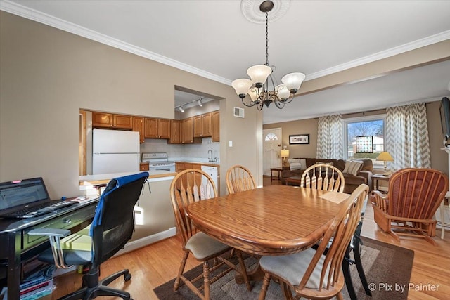
[[[321,238],[319,247],[284,256],[262,256],[259,260],[264,282],[259,300],[266,297],[271,278],[277,280],[285,299],[342,299],[344,287],[342,260],[361,219],[361,210],[368,193],[368,185],[361,184],[342,204],[333,223]],[[330,242],[330,247],[328,246]],[[327,251],[326,255],[323,255]]]

